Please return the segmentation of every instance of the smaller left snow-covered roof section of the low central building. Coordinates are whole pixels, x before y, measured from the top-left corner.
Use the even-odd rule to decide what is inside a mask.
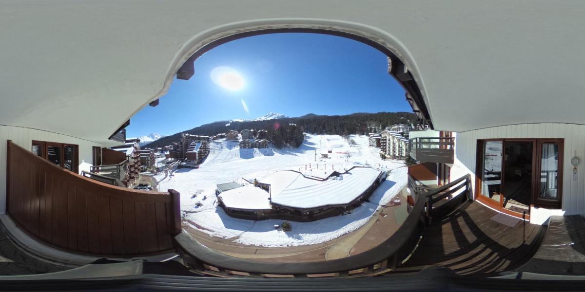
[[[218,195],[228,208],[246,210],[270,210],[269,194],[252,185],[226,190]]]

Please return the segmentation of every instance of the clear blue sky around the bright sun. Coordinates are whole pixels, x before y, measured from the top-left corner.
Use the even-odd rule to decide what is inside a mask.
[[[217,67],[235,69],[243,87],[230,91],[212,81]],[[297,117],[411,111],[380,51],[325,34],[264,34],[230,41],[199,57],[191,79],[175,79],[159,106],[146,106],[130,119],[127,136],[170,135],[269,112]]]

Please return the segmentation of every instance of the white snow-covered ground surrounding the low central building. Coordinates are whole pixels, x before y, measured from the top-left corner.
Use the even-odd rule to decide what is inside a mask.
[[[260,246],[292,246],[319,244],[340,237],[365,224],[374,212],[396,196],[407,183],[407,168],[401,161],[383,161],[378,148],[370,148],[367,136],[351,136],[350,147],[339,135],[307,135],[299,148],[241,149],[238,142],[224,139],[212,141],[209,156],[199,169],[178,169],[164,178],[155,178],[159,190],[175,189],[181,193],[181,210],[194,223],[194,228],[209,235],[230,238],[242,244]],[[331,158],[321,158],[331,150]],[[309,166],[310,164],[310,166]],[[343,172],[354,165],[370,165],[391,171],[370,197],[371,203],[352,210],[351,214],[308,223],[292,222],[292,231],[275,230],[282,220],[252,221],[232,218],[217,207],[215,188],[218,183],[242,182],[242,178],[261,180],[275,171],[293,169],[306,175],[322,176]],[[306,169],[305,169],[306,168]],[[204,199],[205,198],[205,199]],[[201,205],[201,206],[199,206]]]

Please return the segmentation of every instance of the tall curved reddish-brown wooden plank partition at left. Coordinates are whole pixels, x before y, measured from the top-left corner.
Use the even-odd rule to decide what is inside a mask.
[[[107,185],[8,141],[7,213],[30,236],[64,251],[144,256],[173,250],[179,194]]]

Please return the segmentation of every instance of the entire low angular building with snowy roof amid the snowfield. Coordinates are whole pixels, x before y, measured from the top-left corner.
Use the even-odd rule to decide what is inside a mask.
[[[222,190],[218,200],[226,214],[236,218],[314,221],[360,206],[376,190],[384,174],[360,166],[343,173],[331,171],[324,178],[278,171],[259,180],[257,186]]]

